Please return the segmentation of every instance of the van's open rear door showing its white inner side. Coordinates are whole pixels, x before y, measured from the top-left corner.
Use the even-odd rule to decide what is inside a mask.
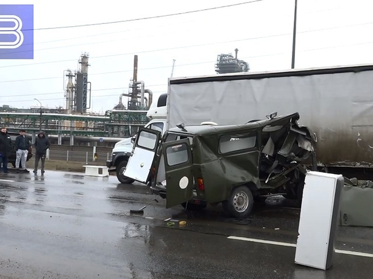
[[[161,133],[159,131],[147,128],[139,129],[134,150],[123,172],[124,176],[146,183],[159,146],[160,137]]]

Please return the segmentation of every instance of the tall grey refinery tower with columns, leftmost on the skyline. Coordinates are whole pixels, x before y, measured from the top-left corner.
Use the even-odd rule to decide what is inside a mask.
[[[64,84],[66,98],[66,113],[85,114],[91,108],[91,83],[88,81],[88,57],[87,53],[81,55],[79,70],[73,73],[71,70],[64,71],[68,77]],[[89,93],[89,99],[88,99]]]

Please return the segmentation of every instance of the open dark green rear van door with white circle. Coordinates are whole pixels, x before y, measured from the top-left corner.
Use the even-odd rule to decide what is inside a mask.
[[[193,162],[189,139],[162,144],[166,170],[166,208],[193,198]]]

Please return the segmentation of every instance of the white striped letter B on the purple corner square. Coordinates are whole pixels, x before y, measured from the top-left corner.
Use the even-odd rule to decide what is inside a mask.
[[[0,22],[14,23],[11,27],[0,27],[0,35],[13,35],[14,41],[0,41],[0,48],[18,48],[23,43],[22,20],[16,15],[0,15]],[[0,37],[1,38],[1,37]]]

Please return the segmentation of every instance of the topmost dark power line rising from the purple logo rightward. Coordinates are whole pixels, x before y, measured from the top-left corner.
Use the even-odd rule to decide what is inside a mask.
[[[219,7],[211,7],[206,9],[199,9],[199,10],[192,10],[192,11],[186,11],[186,12],[179,12],[179,13],[170,13],[167,15],[159,15],[159,16],[148,16],[148,17],[140,17],[136,19],[126,19],[126,20],[117,20],[117,21],[111,21],[111,22],[100,22],[100,23],[90,23],[90,24],[82,24],[82,25],[68,25],[68,26],[57,26],[57,27],[46,27],[46,28],[34,28],[34,29],[25,29],[25,31],[31,31],[31,30],[50,30],[50,29],[65,29],[65,28],[76,28],[76,27],[84,27],[84,26],[97,26],[97,25],[106,25],[106,24],[113,24],[113,23],[123,23],[123,22],[131,22],[131,21],[138,21],[138,20],[146,20],[146,19],[155,19],[155,18],[162,18],[162,17],[169,17],[169,16],[178,16],[178,15],[186,15],[189,13],[197,13],[197,12],[205,12],[210,10],[217,10],[217,9],[223,9],[233,6],[239,6],[254,2],[259,2],[262,0],[251,0],[236,4],[230,4],[230,5],[224,5]]]

